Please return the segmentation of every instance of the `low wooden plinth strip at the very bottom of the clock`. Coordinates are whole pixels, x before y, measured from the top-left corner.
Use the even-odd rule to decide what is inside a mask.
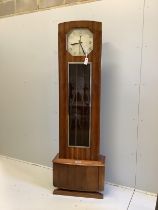
[[[99,193],[99,192],[81,192],[81,191],[73,191],[73,190],[55,189],[53,191],[53,194],[54,195],[65,195],[65,196],[103,199],[103,194]]]

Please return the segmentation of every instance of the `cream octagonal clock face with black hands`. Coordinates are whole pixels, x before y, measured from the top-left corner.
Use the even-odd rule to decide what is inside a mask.
[[[93,33],[89,29],[77,28],[67,34],[67,51],[72,56],[86,56],[93,50]]]

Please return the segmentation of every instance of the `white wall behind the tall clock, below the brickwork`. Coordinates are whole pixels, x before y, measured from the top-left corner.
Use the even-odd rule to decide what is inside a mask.
[[[51,165],[58,152],[58,23],[98,20],[106,180],[157,192],[156,6],[146,1],[145,25],[144,0],[102,0],[0,19],[0,153]]]

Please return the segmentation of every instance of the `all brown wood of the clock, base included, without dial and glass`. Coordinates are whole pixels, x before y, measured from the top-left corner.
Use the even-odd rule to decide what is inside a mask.
[[[90,143],[69,146],[69,62],[84,63],[85,56],[72,56],[66,50],[66,35],[74,28],[87,28],[93,33],[91,63]],[[105,157],[100,155],[100,83],[102,24],[96,21],[70,21],[59,24],[59,154],[53,159],[54,194],[103,198]],[[76,71],[77,72],[77,71]],[[76,73],[77,75],[77,73]],[[76,78],[76,77],[75,77]],[[75,81],[78,82],[77,79]],[[78,103],[78,106],[80,104]],[[82,104],[83,106],[83,104]],[[78,109],[80,107],[77,107]],[[75,131],[76,132],[76,131]],[[73,133],[72,133],[73,134]],[[79,139],[80,140],[80,139]],[[79,141],[80,142],[80,141]],[[75,142],[76,143],[76,142]],[[80,142],[79,144],[81,144]]]

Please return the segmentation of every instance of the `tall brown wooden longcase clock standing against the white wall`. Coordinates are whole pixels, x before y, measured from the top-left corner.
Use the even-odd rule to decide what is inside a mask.
[[[103,198],[105,157],[100,144],[102,24],[59,24],[59,154],[54,194]]]

